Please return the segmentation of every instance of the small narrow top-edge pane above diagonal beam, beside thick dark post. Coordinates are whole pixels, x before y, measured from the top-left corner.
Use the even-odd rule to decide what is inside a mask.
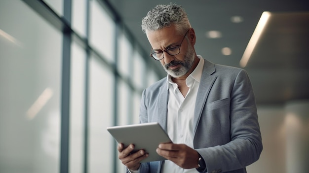
[[[86,0],[72,0],[72,27],[78,34],[86,36]]]

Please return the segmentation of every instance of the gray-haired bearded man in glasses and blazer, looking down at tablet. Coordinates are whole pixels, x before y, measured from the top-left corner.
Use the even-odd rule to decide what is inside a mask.
[[[140,163],[144,150],[118,145],[131,173],[246,173],[262,152],[255,98],[243,69],[213,64],[194,50],[195,33],[185,10],[157,5],[142,21],[167,77],[143,91],[140,123],[159,122],[173,143],[156,152],[165,161]]]

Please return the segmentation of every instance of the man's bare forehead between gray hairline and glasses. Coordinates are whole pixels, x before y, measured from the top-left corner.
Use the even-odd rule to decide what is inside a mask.
[[[171,26],[147,32],[147,37],[154,50],[163,50],[171,45],[179,44],[181,35],[177,33],[174,26]]]

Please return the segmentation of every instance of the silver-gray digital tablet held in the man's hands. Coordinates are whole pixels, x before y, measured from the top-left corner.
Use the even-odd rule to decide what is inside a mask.
[[[123,143],[124,148],[133,143],[133,152],[144,149],[149,156],[141,162],[152,162],[166,160],[156,153],[159,143],[172,142],[162,127],[157,122],[142,123],[125,126],[108,127],[109,133],[118,143]]]

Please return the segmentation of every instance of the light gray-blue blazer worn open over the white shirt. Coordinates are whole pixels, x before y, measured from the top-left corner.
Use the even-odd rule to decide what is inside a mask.
[[[166,131],[166,85],[165,77],[143,91],[140,123],[159,122]],[[262,138],[245,70],[205,60],[194,108],[193,134],[194,149],[204,158],[208,173],[246,173],[245,167],[259,159]],[[140,173],[160,173],[162,162],[143,163]]]

